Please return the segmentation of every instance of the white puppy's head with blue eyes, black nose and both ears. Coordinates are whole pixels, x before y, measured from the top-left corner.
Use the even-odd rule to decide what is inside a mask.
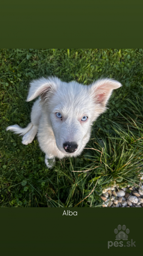
[[[80,150],[91,124],[106,110],[112,91],[122,86],[113,79],[100,79],[86,86],[56,77],[34,80],[30,85],[27,101],[41,96],[58,149],[73,155]]]

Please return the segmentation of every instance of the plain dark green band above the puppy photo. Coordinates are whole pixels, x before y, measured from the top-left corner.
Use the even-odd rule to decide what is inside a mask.
[[[0,48],[142,48],[138,1],[8,1]]]

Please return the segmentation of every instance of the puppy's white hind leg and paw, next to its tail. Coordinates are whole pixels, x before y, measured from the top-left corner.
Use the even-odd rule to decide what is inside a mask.
[[[31,111],[31,123],[33,127],[22,138],[22,144],[28,145],[33,141],[38,132],[39,120],[41,117],[41,106],[39,106],[39,99],[35,101]]]

